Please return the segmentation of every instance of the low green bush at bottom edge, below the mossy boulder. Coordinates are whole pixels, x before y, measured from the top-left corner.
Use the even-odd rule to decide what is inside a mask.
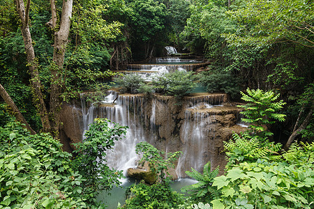
[[[130,186],[130,197],[123,208],[179,208],[182,204],[184,204],[182,194],[174,192],[169,183],[151,186],[140,183]]]

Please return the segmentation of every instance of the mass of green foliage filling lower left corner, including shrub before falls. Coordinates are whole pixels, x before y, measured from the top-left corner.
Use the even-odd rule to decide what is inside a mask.
[[[112,188],[121,173],[96,160],[124,128],[98,120],[72,161],[50,134],[31,135],[19,123],[0,127],[0,208],[104,208],[98,189]]]

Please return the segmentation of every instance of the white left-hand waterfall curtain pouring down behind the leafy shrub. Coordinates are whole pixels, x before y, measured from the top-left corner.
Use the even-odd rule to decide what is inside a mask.
[[[89,109],[86,109],[84,96],[81,98],[85,131],[96,117],[107,118],[114,123],[129,127],[126,137],[115,141],[114,148],[107,151],[108,167],[122,170],[126,176],[126,170],[136,165],[135,145],[140,141],[145,141],[144,128],[140,125],[143,98],[137,95],[119,95],[117,98],[117,93],[111,91],[99,107],[91,105]],[[117,98],[117,102],[112,104],[115,98]]]

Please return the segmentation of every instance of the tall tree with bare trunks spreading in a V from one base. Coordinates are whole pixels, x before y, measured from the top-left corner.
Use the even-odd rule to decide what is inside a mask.
[[[15,5],[17,13],[22,22],[20,28],[27,54],[27,64],[29,65],[29,73],[31,75],[31,87],[33,90],[33,100],[40,113],[41,122],[44,132],[52,132],[54,137],[59,136],[59,110],[61,107],[61,89],[64,54],[68,43],[68,34],[70,32],[70,18],[72,17],[73,0],[63,0],[61,10],[61,20],[59,30],[54,33],[54,55],[51,65],[51,85],[50,85],[50,114],[48,114],[45,101],[43,99],[42,84],[40,82],[38,72],[38,60],[33,49],[31,32],[29,30],[29,9],[30,0],[27,0],[25,6],[24,0],[16,0]],[[54,0],[50,1],[52,9],[52,20],[49,24],[52,29],[57,26],[57,12]]]

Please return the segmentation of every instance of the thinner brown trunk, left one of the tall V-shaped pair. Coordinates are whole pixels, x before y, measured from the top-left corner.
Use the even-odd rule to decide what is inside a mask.
[[[31,40],[31,32],[29,31],[29,5],[30,0],[27,1],[27,7],[24,6],[24,0],[15,0],[17,13],[20,15],[22,22],[21,31],[27,54],[27,64],[29,65],[29,73],[31,75],[31,90],[33,93],[33,101],[36,109],[39,112],[41,124],[43,125],[43,132],[50,132],[50,122],[48,112],[43,100],[42,85],[38,73],[38,63],[35,58],[33,44]]]

